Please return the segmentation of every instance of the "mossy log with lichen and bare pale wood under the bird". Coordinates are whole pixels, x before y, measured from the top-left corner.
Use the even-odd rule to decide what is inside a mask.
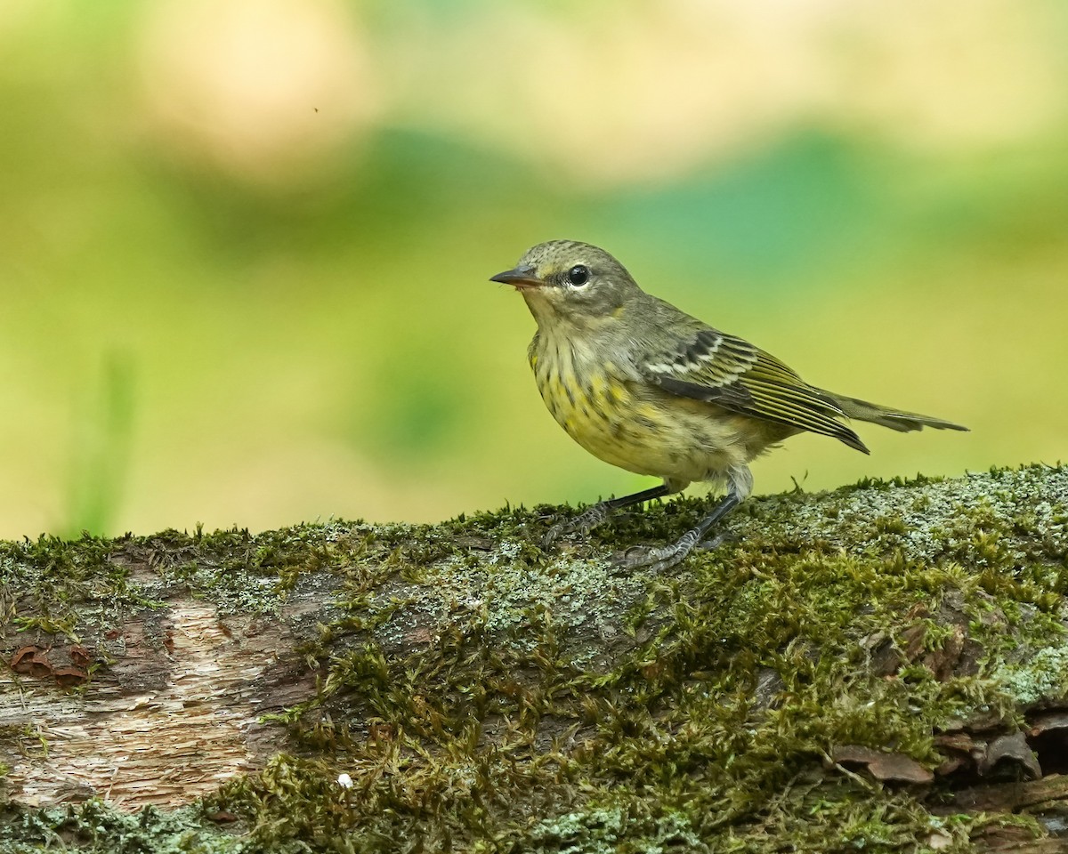
[[[1068,469],[707,506],[0,543],[0,852],[1068,852]]]

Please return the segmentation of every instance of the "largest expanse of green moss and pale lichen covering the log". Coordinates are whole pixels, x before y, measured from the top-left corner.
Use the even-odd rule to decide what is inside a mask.
[[[95,568],[61,582],[70,607],[49,619],[97,589],[138,608],[182,584],[270,614],[326,597],[299,649],[318,689],[279,718],[304,758],[205,805],[239,816],[250,850],[900,851],[938,833],[967,851],[988,819],[938,818],[924,791],[831,757],[861,745],[934,768],[940,730],[1010,727],[1064,695],[1066,508],[1068,471],[1043,466],[795,491],[747,503],[732,539],[660,575],[604,558],[677,537],[707,501],[551,553],[549,509],[520,508],[6,554],[22,579],[45,553]],[[134,583],[131,560],[158,576]],[[9,607],[33,619],[45,589]]]

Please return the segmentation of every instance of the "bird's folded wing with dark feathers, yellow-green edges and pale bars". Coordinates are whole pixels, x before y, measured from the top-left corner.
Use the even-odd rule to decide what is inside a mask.
[[[842,408],[770,353],[710,327],[696,330],[673,350],[649,353],[640,366],[666,392],[707,400],[741,415],[830,436],[867,453],[839,418]]]

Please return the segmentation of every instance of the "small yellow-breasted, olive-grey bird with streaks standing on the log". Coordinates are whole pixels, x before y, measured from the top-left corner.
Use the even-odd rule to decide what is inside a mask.
[[[621,569],[665,570],[698,545],[721,541],[704,538],[752,493],[750,462],[791,436],[819,433],[868,454],[850,420],[902,432],[968,429],[810,385],[744,338],[645,292],[615,257],[591,243],[538,243],[490,281],[512,285],[534,316],[528,358],[561,427],[604,462],[662,481],[557,522],[546,548],[691,483],[725,488],[677,541],[632,547],[613,560]]]

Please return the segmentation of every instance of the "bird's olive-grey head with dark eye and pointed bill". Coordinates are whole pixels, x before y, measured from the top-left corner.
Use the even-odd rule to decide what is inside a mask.
[[[538,326],[560,321],[588,326],[612,317],[642,291],[603,249],[550,240],[527,250],[513,269],[491,276],[522,294]]]

